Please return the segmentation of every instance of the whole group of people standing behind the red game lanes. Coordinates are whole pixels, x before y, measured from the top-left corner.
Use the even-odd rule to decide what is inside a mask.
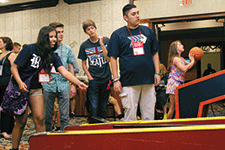
[[[189,55],[190,63],[186,62],[181,56],[184,46],[181,41],[174,41],[169,47],[166,70],[159,63],[159,44],[153,30],[139,25],[138,8],[127,4],[122,13],[127,25],[115,30],[110,38],[97,35],[94,21],[89,19],[82,24],[89,38],[80,45],[78,59],[82,61],[88,85],[75,77],[79,67],[72,49],[63,43],[62,23],[52,22],[42,27],[36,43],[23,46],[20,52],[19,43],[13,44],[9,37],[0,37],[0,102],[3,102],[9,82],[19,86],[22,92],[29,93],[29,109],[25,113],[10,116],[1,112],[1,134],[9,138],[8,134],[12,133],[12,149],[19,148],[29,111],[36,132],[52,131],[54,104],[58,104],[58,128],[63,130],[69,124],[69,117],[75,115],[74,107],[70,106],[74,106],[77,87],[87,90],[89,123],[95,122],[93,118],[106,118],[108,103],[114,105],[120,120],[137,120],[138,108],[142,120],[154,120],[155,93],[160,86],[164,89],[162,94],[169,95],[168,113],[167,97],[157,103],[164,110],[164,119],[173,117],[174,91],[185,81],[185,73],[196,61]],[[25,80],[32,75],[28,88]],[[123,112],[117,100],[110,95],[111,86],[121,98]]]

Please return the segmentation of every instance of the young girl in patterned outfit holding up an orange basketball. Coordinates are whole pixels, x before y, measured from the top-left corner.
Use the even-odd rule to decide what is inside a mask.
[[[168,70],[169,81],[167,83],[166,94],[170,97],[170,107],[167,114],[167,119],[172,119],[175,111],[175,89],[185,81],[185,73],[193,67],[195,59],[189,54],[190,63],[186,62],[181,54],[184,51],[184,46],[181,41],[177,40],[170,44],[168,54]]]

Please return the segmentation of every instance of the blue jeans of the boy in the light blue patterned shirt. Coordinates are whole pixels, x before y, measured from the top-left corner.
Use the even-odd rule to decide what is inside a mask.
[[[59,104],[60,130],[69,125],[69,91],[67,92],[48,92],[43,90],[45,107],[45,128],[46,131],[52,131],[52,115],[54,110],[55,98]]]

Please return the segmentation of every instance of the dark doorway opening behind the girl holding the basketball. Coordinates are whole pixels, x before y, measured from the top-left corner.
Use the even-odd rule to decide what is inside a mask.
[[[203,58],[187,72],[187,81],[202,77],[202,71],[206,69],[207,62],[212,62],[212,66],[217,68],[216,71],[220,71],[224,69],[223,51],[225,48],[223,36],[223,27],[159,31],[161,62],[167,66],[169,45],[175,40],[180,40],[184,45],[185,51],[182,53],[182,57],[185,59],[188,59],[188,54],[192,47],[198,46],[205,49]],[[217,47],[220,50],[209,52],[206,50],[207,46],[213,49]]]

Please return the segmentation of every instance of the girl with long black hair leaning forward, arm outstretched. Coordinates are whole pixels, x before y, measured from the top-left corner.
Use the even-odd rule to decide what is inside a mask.
[[[32,112],[36,132],[44,132],[44,102],[42,86],[38,81],[38,73],[35,74],[30,83],[28,91],[24,81],[31,76],[37,69],[44,69],[48,74],[51,71],[51,63],[62,74],[64,78],[78,85],[81,89],[87,89],[87,85],[80,82],[74,75],[67,71],[63,66],[59,56],[54,53],[58,47],[57,33],[55,28],[45,26],[41,28],[35,44],[25,46],[16,57],[11,66],[13,84],[18,84],[22,92],[29,92],[29,107]],[[16,116],[16,124],[12,132],[12,150],[19,148],[20,139],[27,121],[27,113]]]

